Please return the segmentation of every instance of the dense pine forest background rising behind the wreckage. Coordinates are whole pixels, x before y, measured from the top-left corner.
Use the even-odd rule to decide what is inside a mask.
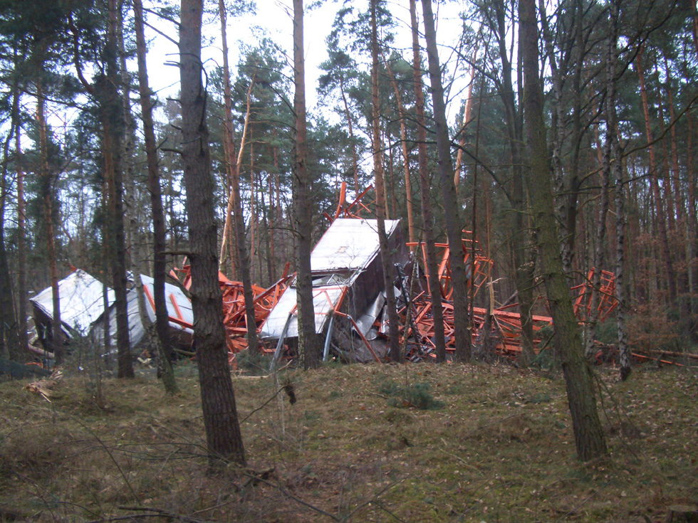
[[[16,347],[10,327],[19,325],[15,332],[24,336],[27,298],[52,279],[72,268],[107,279],[122,258],[127,270],[152,274],[153,186],[142,124],[142,107],[148,105],[155,107],[167,270],[181,266],[189,248],[180,107],[176,96],[144,97],[137,74],[139,45],[145,52],[137,38],[138,5],[0,4],[0,300],[7,327],[0,339],[10,353]],[[459,226],[474,231],[495,260],[491,276],[501,304],[511,300],[516,278],[521,282],[526,274],[527,288],[543,292],[536,285],[541,264],[531,234],[530,195],[521,181],[528,162],[519,10],[516,1],[459,5],[462,33],[439,48],[447,64],[447,103],[461,104],[448,122]],[[264,5],[222,0],[205,8],[213,38],[222,15],[240,16]],[[341,182],[348,184],[349,200],[374,183],[374,151],[385,167],[387,218],[400,218],[405,237],[419,240],[421,201],[428,199],[434,238],[444,241],[429,82],[423,71],[431,178],[429,190],[422,191],[412,49],[396,43],[397,33],[409,32],[409,22],[395,16],[392,4],[377,3],[375,134],[368,2],[336,8],[321,76],[317,85],[306,86],[319,100],[308,113],[313,243],[329,224],[323,211],[331,214],[337,205]],[[178,9],[166,2],[141,7],[150,46],[177,38]],[[630,343],[683,351],[698,336],[696,5],[541,1],[538,32],[550,176],[570,286],[588,278],[593,267],[615,273]],[[296,259],[289,55],[264,38],[240,48],[230,71],[227,57],[204,64],[219,248],[239,175],[249,273],[262,286]],[[426,68],[425,52],[421,62]],[[176,76],[177,68],[172,70]],[[239,255],[226,245],[221,252],[223,272],[241,280]],[[608,322],[597,337],[615,343],[615,332],[615,322]]]

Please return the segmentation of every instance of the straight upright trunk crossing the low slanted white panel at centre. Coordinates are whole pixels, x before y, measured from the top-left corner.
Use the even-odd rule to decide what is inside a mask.
[[[303,0],[293,0],[293,80],[296,84],[296,172],[293,173],[293,212],[296,216],[296,292],[298,293],[298,356],[303,369],[320,364],[318,336],[313,310],[311,250],[313,196],[306,164],[306,66],[303,58]]]

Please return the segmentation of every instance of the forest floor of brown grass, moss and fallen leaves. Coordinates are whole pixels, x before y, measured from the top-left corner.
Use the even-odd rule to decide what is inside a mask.
[[[575,457],[561,374],[337,365],[235,376],[248,468],[207,470],[199,383],[0,384],[0,522],[663,522],[698,504],[698,369],[598,369],[610,456]],[[291,384],[296,402],[278,385]],[[271,401],[269,401],[271,399]],[[266,403],[265,405],[265,402]],[[102,403],[100,406],[99,403]],[[424,408],[417,408],[420,405]]]

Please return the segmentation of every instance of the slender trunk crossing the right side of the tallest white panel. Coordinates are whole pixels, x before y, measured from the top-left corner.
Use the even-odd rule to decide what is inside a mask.
[[[388,246],[385,232],[385,179],[383,175],[382,147],[380,147],[380,101],[378,98],[378,32],[376,27],[376,0],[371,0],[371,106],[373,130],[373,171],[375,174],[375,213],[378,223],[378,244],[383,269],[383,287],[385,288],[385,307],[388,319],[388,352],[392,361],[399,361],[400,340],[398,339],[397,306],[395,301],[395,268],[392,265],[392,253]]]

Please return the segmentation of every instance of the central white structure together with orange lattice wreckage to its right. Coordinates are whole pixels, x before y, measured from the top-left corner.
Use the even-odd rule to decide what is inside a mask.
[[[330,355],[352,361],[386,359],[387,312],[377,223],[364,217],[371,216],[370,208],[375,206],[375,202],[363,201],[370,189],[360,194],[352,204],[345,204],[343,186],[334,216],[325,213],[325,218],[331,222],[330,227],[311,254],[315,325],[316,332],[324,339],[323,359],[328,359]],[[400,346],[405,347],[404,356],[410,361],[430,359],[435,356],[434,319],[424,243],[403,244],[400,221],[387,220],[385,228],[395,265],[392,278],[400,317]],[[439,289],[435,292],[442,297],[447,353],[453,353],[454,314],[468,312],[454,311],[449,245],[437,243],[436,246]],[[406,247],[415,250],[415,255],[410,256]],[[516,303],[503,307],[495,305],[490,278],[494,260],[484,255],[479,241],[469,231],[463,231],[462,255],[468,272],[469,295],[481,305],[472,307],[474,346],[486,349],[495,356],[518,356],[522,344],[521,315],[516,312]],[[590,312],[592,280],[593,270],[583,285],[573,289],[577,292],[575,315],[580,322]],[[484,286],[488,287],[489,295],[479,297]],[[617,305],[615,276],[603,271],[598,321],[608,317]],[[282,351],[287,356],[293,356],[296,352],[296,307],[296,289],[292,284],[259,329],[261,339],[267,343],[266,350],[270,350],[269,344],[274,345],[276,357],[281,356]],[[549,315],[533,315],[532,320],[533,342],[537,352],[546,345],[547,340],[541,339],[540,333],[545,327],[551,327],[552,318]]]

